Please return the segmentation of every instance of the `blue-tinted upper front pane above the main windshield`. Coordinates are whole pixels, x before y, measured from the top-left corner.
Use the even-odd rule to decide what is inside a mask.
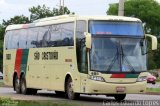
[[[144,36],[140,22],[90,21],[89,31],[94,35]]]

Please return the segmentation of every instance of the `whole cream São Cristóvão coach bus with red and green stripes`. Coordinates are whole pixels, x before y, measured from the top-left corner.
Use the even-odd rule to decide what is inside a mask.
[[[145,93],[146,37],[137,18],[63,15],[10,25],[4,40],[4,83],[17,93],[54,90],[114,96]]]

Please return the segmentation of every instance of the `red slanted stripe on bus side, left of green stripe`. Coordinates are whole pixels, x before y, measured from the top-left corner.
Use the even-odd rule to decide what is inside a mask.
[[[22,49],[18,49],[16,52],[16,60],[14,66],[14,71],[17,72],[18,78],[20,78],[21,62],[22,62]]]

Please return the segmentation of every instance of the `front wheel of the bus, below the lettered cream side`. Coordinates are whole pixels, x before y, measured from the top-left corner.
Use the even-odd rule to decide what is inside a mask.
[[[67,94],[67,97],[71,100],[74,100],[74,99],[77,99],[79,97],[80,94],[78,93],[75,93],[73,91],[73,82],[72,82],[72,79],[69,78],[67,80],[67,85],[66,85],[66,94]]]

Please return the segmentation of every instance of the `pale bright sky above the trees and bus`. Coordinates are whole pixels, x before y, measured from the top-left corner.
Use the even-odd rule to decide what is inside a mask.
[[[16,15],[30,15],[28,9],[45,4],[50,8],[58,8],[60,0],[0,0],[0,23]],[[64,0],[65,6],[78,15],[106,15],[111,3],[119,0]]]

